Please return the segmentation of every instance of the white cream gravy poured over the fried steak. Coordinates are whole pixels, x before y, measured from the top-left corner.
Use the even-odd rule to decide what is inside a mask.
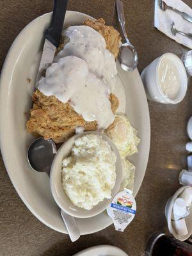
[[[106,129],[115,119],[109,94],[117,78],[115,58],[100,33],[88,26],[63,31],[70,41],[40,79],[38,90],[68,102],[84,120]]]

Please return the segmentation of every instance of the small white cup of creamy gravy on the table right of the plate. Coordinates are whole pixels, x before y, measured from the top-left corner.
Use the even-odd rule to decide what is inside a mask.
[[[152,61],[141,73],[141,79],[147,98],[164,104],[179,103],[188,88],[184,64],[169,52]]]

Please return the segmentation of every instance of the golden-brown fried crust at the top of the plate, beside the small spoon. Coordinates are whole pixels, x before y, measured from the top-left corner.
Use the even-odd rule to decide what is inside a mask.
[[[89,26],[98,31],[106,40],[106,48],[113,53],[116,58],[118,56],[119,44],[122,38],[115,28],[106,26],[105,23],[105,20],[102,18],[99,20],[87,19],[83,22],[83,25]]]

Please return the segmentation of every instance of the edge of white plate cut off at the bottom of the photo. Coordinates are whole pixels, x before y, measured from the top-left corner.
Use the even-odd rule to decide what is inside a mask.
[[[111,245],[99,245],[93,246],[86,250],[83,250],[79,253],[76,253],[74,256],[128,256],[127,253],[121,249],[111,246]]]

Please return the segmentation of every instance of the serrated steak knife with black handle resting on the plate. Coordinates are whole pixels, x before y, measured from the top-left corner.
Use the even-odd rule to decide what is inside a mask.
[[[60,44],[61,31],[63,29],[63,21],[67,9],[67,0],[54,0],[54,8],[52,13],[51,24],[45,30],[45,42],[42,52],[42,58],[36,76],[36,86],[42,76],[42,72],[49,67],[54,59],[54,55],[58,45]]]

